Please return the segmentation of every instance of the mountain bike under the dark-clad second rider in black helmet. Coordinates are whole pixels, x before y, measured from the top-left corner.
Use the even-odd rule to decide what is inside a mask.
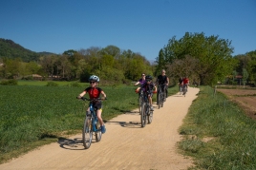
[[[146,122],[152,123],[153,111],[151,111],[150,109],[147,93],[143,90],[141,91],[142,91],[141,92],[142,104],[141,104],[141,112],[140,112],[140,122],[141,122],[141,127],[144,127],[146,125]]]

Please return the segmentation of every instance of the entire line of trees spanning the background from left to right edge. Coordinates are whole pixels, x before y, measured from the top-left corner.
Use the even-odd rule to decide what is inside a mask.
[[[96,74],[103,82],[125,83],[138,80],[142,72],[157,76],[160,69],[166,69],[174,84],[183,76],[200,85],[224,83],[226,79],[234,83],[238,75],[243,77],[244,84],[246,81],[255,84],[256,50],[232,57],[233,49],[231,41],[219,36],[186,32],[179,40],[174,36],[160,49],[156,66],[130,49],[90,47],[67,50],[61,55],[43,55],[30,62],[2,57],[0,78],[39,74],[45,78],[86,82],[91,74]]]

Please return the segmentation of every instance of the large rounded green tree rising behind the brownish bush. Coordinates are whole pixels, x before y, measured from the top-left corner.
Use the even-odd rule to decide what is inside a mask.
[[[216,84],[231,73],[235,65],[232,52],[230,41],[214,35],[207,37],[203,32],[186,32],[180,40],[173,37],[168,45],[163,47],[165,62],[168,64],[172,64],[176,59],[183,60],[185,56],[197,59],[193,74],[200,78],[202,85]]]

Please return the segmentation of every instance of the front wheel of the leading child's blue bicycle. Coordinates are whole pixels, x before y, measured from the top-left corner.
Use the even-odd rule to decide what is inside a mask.
[[[88,149],[91,146],[92,138],[93,138],[92,118],[90,117],[87,117],[84,120],[82,137],[83,137],[83,146],[84,148]]]

